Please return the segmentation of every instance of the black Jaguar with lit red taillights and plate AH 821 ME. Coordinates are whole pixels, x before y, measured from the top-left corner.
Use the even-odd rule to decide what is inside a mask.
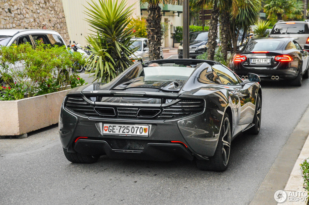
[[[303,77],[309,78],[308,63],[308,52],[293,38],[257,38],[233,55],[230,68],[243,79],[251,72],[261,80],[289,80],[301,86]]]

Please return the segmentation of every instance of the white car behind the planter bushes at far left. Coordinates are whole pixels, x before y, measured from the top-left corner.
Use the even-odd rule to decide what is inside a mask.
[[[12,44],[30,43],[32,47],[36,47],[36,40],[40,39],[44,44],[52,46],[64,46],[64,40],[56,31],[46,29],[2,29],[0,30],[0,46],[11,46]],[[23,64],[17,63],[16,68],[23,70]],[[4,81],[0,76],[0,84]]]

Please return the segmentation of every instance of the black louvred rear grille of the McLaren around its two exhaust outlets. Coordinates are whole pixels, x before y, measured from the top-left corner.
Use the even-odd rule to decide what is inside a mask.
[[[162,113],[154,117],[154,119],[174,119],[194,115],[203,112],[204,105],[203,100],[181,100],[174,105],[164,107]],[[94,105],[87,103],[82,97],[68,97],[65,106],[75,113],[88,117],[99,117],[94,111]],[[116,116],[106,117],[138,118],[137,112],[139,108],[117,107],[116,109]]]

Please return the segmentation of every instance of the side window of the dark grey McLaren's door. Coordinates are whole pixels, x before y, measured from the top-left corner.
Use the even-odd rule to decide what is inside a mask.
[[[222,84],[224,85],[238,85],[239,84],[237,77],[228,68],[225,68],[222,65],[214,65],[212,66],[212,68],[214,69],[214,72],[216,72]]]

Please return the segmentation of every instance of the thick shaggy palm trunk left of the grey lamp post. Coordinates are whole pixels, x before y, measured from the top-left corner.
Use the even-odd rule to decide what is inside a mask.
[[[150,60],[160,59],[160,49],[162,41],[161,8],[159,4],[148,5],[147,37]]]

